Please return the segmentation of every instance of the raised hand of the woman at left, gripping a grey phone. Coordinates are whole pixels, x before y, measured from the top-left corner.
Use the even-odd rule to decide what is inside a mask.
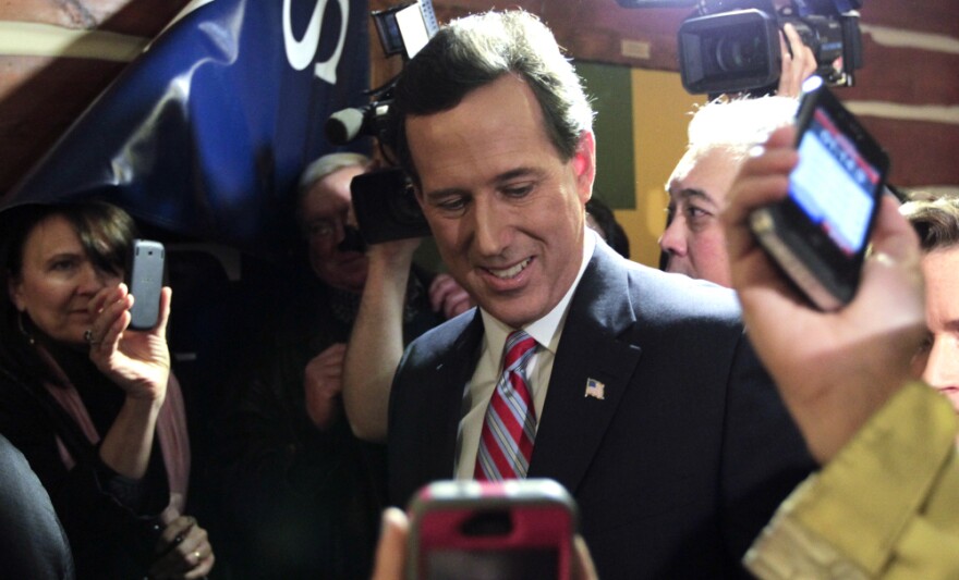
[[[126,396],[161,404],[170,378],[167,321],[172,291],[160,293],[160,316],[148,331],[130,330],[133,295],[126,284],[104,288],[87,307],[94,320],[87,336],[90,360],[117,383]]]

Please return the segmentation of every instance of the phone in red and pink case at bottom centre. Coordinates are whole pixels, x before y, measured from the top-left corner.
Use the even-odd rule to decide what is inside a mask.
[[[569,579],[575,503],[559,483],[441,481],[413,499],[409,579]]]

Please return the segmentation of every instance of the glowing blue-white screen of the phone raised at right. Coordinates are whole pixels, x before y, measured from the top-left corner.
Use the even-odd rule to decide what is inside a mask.
[[[881,169],[817,107],[799,144],[789,195],[847,257],[865,246],[881,182]]]

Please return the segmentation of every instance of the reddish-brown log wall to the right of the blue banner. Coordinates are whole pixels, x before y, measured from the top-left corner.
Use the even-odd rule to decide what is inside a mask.
[[[777,0],[778,2],[779,0]],[[389,5],[374,0],[373,4]],[[584,61],[678,71],[676,32],[692,9],[624,9],[615,0],[434,0],[440,22],[489,8],[538,14]],[[890,181],[959,189],[959,2],[864,0],[865,66],[839,97],[889,150]],[[639,57],[632,54],[640,54]],[[376,51],[374,51],[376,55]],[[375,61],[374,61],[375,62]],[[396,67],[388,63],[387,70]]]

